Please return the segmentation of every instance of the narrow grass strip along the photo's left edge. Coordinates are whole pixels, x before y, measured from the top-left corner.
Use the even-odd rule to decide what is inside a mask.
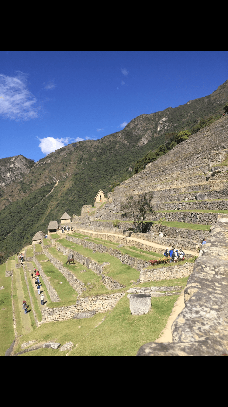
[[[11,299],[11,277],[6,277],[6,263],[0,266],[0,355],[4,356],[15,339],[13,330],[13,306]]]

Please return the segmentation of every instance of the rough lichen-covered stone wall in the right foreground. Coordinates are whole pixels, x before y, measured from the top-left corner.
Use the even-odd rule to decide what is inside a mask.
[[[138,356],[228,356],[228,215],[218,215],[185,288],[172,343],[150,342]]]

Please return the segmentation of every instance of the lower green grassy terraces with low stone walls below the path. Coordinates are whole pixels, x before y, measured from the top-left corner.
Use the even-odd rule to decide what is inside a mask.
[[[148,260],[159,261],[161,254],[78,233],[55,237],[26,247],[24,263],[15,255],[0,267],[2,355],[14,337],[8,353],[18,356],[135,355],[151,335],[159,337],[191,274],[191,261],[152,267]],[[75,264],[66,265],[72,254]],[[39,269],[44,305],[33,267]],[[146,278],[150,271],[153,277]],[[133,292],[151,293],[153,312],[131,315],[127,293]]]

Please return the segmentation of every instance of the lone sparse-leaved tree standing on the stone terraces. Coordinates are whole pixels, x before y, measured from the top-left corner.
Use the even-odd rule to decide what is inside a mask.
[[[152,193],[143,193],[138,195],[137,198],[129,195],[127,201],[120,206],[120,210],[123,212],[122,217],[132,217],[137,232],[142,233],[143,222],[146,220],[147,215],[155,212],[151,205],[152,198]]]

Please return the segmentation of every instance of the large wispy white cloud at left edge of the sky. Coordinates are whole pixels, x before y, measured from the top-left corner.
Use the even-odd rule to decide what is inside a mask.
[[[17,121],[38,117],[37,98],[26,87],[23,72],[15,77],[0,74],[0,116]]]

